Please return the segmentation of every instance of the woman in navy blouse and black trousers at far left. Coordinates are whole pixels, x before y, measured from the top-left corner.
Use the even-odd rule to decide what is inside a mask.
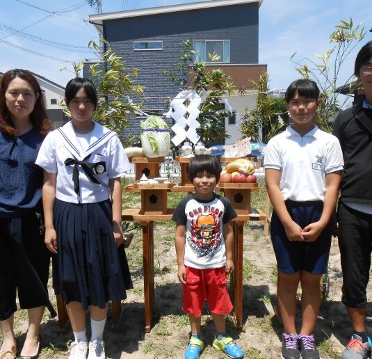
[[[28,310],[29,330],[22,358],[40,350],[47,294],[49,254],[42,235],[42,170],[35,165],[50,123],[38,81],[26,70],[10,70],[0,81],[0,356],[14,358],[13,315]]]

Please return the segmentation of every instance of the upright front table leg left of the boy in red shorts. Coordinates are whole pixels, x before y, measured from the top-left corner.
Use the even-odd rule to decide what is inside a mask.
[[[143,287],[145,293],[145,333],[151,331],[154,303],[154,222],[142,223]]]

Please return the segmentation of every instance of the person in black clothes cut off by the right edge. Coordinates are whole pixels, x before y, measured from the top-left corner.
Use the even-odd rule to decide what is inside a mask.
[[[342,303],[353,326],[343,359],[364,359],[371,355],[365,321],[372,248],[372,41],[360,49],[354,70],[364,88],[364,97],[339,113],[333,129],[345,161],[339,200],[339,248]]]

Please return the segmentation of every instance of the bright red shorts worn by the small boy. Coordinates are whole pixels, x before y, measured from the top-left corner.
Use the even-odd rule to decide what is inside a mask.
[[[233,305],[227,293],[226,267],[196,269],[186,266],[186,285],[182,310],[202,316],[204,301],[208,301],[209,310],[215,314],[229,314]]]

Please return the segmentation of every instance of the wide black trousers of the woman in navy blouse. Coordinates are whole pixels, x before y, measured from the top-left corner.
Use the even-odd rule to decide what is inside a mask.
[[[46,305],[55,316],[48,294],[49,252],[35,213],[0,218],[0,320],[16,310]]]

